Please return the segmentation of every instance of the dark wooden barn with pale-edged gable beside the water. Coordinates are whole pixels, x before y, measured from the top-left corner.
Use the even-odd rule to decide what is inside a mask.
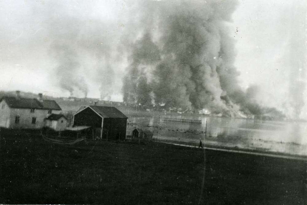
[[[73,126],[91,126],[95,138],[125,140],[127,119],[115,107],[83,106],[74,114]]]

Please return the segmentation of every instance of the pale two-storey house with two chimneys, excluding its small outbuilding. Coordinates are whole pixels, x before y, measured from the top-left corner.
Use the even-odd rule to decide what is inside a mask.
[[[45,125],[45,118],[61,112],[60,106],[53,100],[23,98],[16,91],[15,97],[3,97],[0,100],[0,127],[18,129],[40,129]]]

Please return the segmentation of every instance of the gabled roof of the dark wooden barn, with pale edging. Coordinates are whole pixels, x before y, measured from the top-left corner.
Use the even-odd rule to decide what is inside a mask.
[[[83,107],[83,106],[82,106]],[[122,112],[120,112],[115,107],[106,107],[106,106],[96,106],[96,105],[90,105],[86,106],[82,109],[82,107],[75,113],[75,115],[79,112],[82,112],[86,108],[91,108],[94,110],[99,116],[103,118],[123,118],[128,119],[126,115],[124,115]]]

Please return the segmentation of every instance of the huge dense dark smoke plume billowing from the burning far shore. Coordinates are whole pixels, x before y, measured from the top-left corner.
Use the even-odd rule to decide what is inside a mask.
[[[143,25],[150,26],[131,50],[124,101],[154,101],[230,115],[238,112],[239,107],[231,102],[232,93],[240,91],[239,73],[233,66],[235,42],[227,34],[236,3],[156,3],[155,9],[146,12],[154,18]],[[226,94],[230,99],[221,99]]]

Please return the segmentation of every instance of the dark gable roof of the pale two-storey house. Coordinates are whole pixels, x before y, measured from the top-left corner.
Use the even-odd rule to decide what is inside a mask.
[[[10,108],[61,110],[60,106],[53,100],[43,100],[40,102],[35,98],[16,97],[3,97],[0,102],[2,100],[4,100]]]

